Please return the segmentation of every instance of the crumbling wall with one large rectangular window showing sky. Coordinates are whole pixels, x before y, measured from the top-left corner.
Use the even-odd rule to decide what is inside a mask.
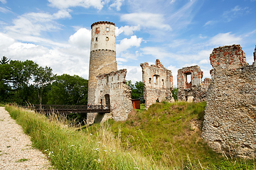
[[[177,75],[177,97],[178,101],[206,101],[206,91],[210,79],[202,81],[203,72],[198,65],[178,69]]]

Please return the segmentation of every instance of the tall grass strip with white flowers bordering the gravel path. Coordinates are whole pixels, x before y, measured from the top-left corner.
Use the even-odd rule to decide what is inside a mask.
[[[61,118],[6,106],[12,118],[31,136],[33,147],[47,154],[56,169],[164,169],[141,156],[125,152],[109,128],[92,133],[64,125]],[[64,123],[64,124],[63,124]]]

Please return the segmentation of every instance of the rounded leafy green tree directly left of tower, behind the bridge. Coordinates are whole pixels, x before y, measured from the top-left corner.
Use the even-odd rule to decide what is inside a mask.
[[[68,74],[56,76],[48,91],[48,104],[87,105],[87,92],[87,79]]]

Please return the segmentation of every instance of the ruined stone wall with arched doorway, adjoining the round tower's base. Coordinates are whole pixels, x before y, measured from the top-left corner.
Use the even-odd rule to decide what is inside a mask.
[[[132,111],[131,89],[125,84],[126,69],[121,69],[108,74],[97,76],[95,89],[95,105],[108,105],[110,102],[110,114],[91,113],[88,118],[90,122],[104,122],[112,118],[116,121],[127,120]]]

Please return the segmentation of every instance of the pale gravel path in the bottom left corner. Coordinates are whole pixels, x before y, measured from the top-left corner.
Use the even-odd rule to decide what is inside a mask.
[[[0,169],[52,169],[46,156],[31,147],[29,136],[4,107],[0,107]]]

